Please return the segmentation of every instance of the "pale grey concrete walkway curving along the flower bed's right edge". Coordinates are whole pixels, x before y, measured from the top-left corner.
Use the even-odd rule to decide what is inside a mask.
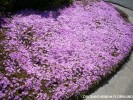
[[[128,16],[129,20],[133,23],[133,11],[115,5],[123,10]],[[122,69],[115,74],[108,84],[99,87],[92,95],[133,95],[133,53],[130,60],[122,67]],[[132,99],[89,99],[85,100],[133,100]]]

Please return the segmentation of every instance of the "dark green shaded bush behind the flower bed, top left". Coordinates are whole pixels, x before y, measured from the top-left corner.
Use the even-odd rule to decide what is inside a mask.
[[[0,12],[13,12],[25,8],[48,10],[69,5],[71,2],[72,0],[0,0]]]

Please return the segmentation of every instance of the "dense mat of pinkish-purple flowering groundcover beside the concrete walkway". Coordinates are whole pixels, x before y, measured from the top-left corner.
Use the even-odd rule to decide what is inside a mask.
[[[0,99],[64,100],[90,89],[129,54],[133,25],[111,4],[23,10],[0,29]]]

